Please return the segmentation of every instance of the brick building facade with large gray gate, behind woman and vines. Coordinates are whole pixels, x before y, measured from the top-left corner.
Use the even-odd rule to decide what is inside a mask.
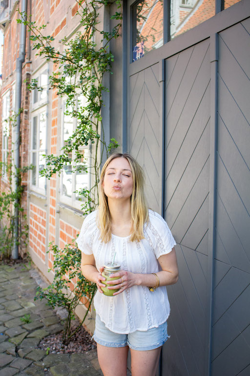
[[[31,8],[29,10],[29,6]],[[15,97],[19,27],[17,2],[2,13],[1,160],[11,148],[3,127]],[[32,1],[28,12],[47,24],[55,46],[81,30],[75,1]],[[116,11],[110,3],[102,22]],[[5,17],[5,18],[4,18]],[[7,20],[7,21],[6,21]],[[109,27],[115,23],[108,21]],[[15,36],[15,38],[14,38]],[[21,164],[28,215],[28,251],[41,272],[46,251],[79,232],[83,215],[74,193],[86,176],[63,170],[42,178],[44,153],[57,154],[76,124],[63,99],[46,90],[55,67],[26,42],[23,64]],[[160,374],[250,373],[250,2],[248,0],[123,1],[122,35],[111,42],[113,74],[103,118],[110,138],[144,167],[149,206],[161,213],[176,239],[180,278],[167,288],[171,339]],[[27,91],[37,79],[42,92]],[[7,189],[7,176],[1,178]],[[26,201],[25,201],[26,200]],[[79,316],[83,312],[77,312]],[[90,313],[94,317],[94,312]],[[93,320],[90,320],[93,322]],[[89,327],[93,331],[93,325]]]

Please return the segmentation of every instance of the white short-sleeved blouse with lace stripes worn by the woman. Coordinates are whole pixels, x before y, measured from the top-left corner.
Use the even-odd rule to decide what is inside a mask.
[[[121,263],[122,270],[133,273],[157,273],[157,259],[171,252],[175,240],[165,220],[158,213],[149,210],[149,223],[144,227],[145,239],[131,242],[130,236],[112,235],[108,243],[100,240],[96,224],[97,211],[88,214],[77,239],[79,249],[85,255],[94,255],[99,270],[106,261]],[[105,326],[116,332],[127,334],[135,330],[157,328],[163,324],[170,313],[165,286],[149,291],[147,286],[132,286],[114,297],[99,291],[94,297],[96,313]]]

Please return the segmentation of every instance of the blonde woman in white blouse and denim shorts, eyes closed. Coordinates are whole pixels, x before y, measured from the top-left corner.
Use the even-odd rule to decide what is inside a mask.
[[[98,288],[94,339],[104,376],[126,376],[128,347],[132,376],[154,376],[167,340],[165,286],[178,280],[176,243],[164,219],[148,211],[143,170],[129,154],[104,164],[99,209],[87,215],[77,241],[83,275]],[[119,290],[109,297],[102,272],[114,255],[121,271],[107,283]]]

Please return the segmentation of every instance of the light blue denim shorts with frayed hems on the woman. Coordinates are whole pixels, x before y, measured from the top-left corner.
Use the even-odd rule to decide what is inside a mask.
[[[93,338],[97,343],[106,347],[129,346],[133,350],[153,350],[162,346],[167,341],[167,321],[158,328],[119,334],[107,329],[101,321],[100,316],[96,315],[96,328]]]

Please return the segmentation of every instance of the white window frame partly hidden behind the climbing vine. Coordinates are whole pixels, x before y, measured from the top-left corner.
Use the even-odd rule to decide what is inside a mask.
[[[62,141],[61,141],[61,145],[63,146],[64,145],[64,112],[65,112],[65,100],[62,99]],[[78,103],[78,101],[76,100],[76,102]],[[77,118],[73,118],[73,129],[72,129],[72,133],[75,131],[77,127]],[[86,159],[87,159],[87,166],[89,167],[89,159],[90,159],[90,149],[89,149],[89,146],[83,146],[81,148],[81,150],[84,150],[84,154],[86,154]],[[75,158],[75,152],[73,150],[72,152],[72,160],[74,160]],[[72,165],[73,169],[74,167],[76,166],[76,164],[74,163]],[[85,175],[85,174],[84,174]],[[86,182],[85,184],[87,183],[87,186],[85,186],[86,188],[90,188],[90,181],[91,181],[91,174],[88,172],[86,174]],[[63,204],[66,204],[67,206],[70,206],[72,208],[75,208],[75,209],[78,209],[78,210],[82,210],[82,205],[83,205],[83,201],[80,201],[76,198],[76,189],[78,190],[78,187],[77,187],[77,174],[76,174],[76,171],[73,170],[73,172],[71,173],[71,178],[69,178],[69,182],[68,182],[68,186],[71,186],[72,187],[72,191],[71,191],[71,197],[70,196],[67,196],[64,194],[65,192],[65,174],[64,174],[64,169],[62,169],[62,173],[61,173],[61,177],[60,177],[60,201],[63,203]],[[70,182],[70,179],[71,179],[71,182]],[[83,186],[84,186],[84,183],[83,183]],[[80,187],[81,188],[81,187]],[[82,187],[83,188],[83,187]]]

